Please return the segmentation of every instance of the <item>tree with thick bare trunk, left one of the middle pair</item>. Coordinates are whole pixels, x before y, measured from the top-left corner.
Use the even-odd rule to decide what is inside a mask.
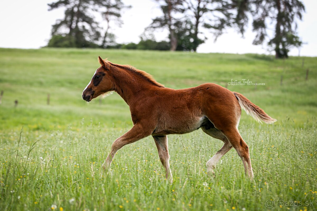
[[[169,31],[170,50],[175,51],[177,48],[177,16],[183,12],[183,0],[156,0],[160,4],[163,16],[154,18],[149,28],[167,28]]]

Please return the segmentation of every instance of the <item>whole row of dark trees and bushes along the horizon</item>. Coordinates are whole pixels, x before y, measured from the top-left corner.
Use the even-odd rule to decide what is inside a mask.
[[[249,21],[256,32],[254,45],[267,44],[276,58],[288,57],[291,47],[303,42],[297,35],[297,20],[305,6],[300,0],[152,0],[162,15],[140,36],[139,43],[115,42],[112,24],[122,25],[124,10],[131,8],[121,0],[58,0],[49,10],[64,8],[63,18],[52,26],[48,47],[91,47],[142,50],[194,51],[212,33],[215,40],[226,29],[235,28],[243,36]],[[95,21],[99,14],[103,22]],[[270,27],[274,26],[272,32]],[[168,31],[168,41],[157,42],[155,32]]]

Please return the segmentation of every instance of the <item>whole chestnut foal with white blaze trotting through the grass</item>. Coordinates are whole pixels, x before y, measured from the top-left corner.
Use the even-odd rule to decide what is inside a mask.
[[[173,181],[167,135],[190,133],[202,128],[205,133],[224,143],[206,164],[210,176],[215,176],[213,169],[217,162],[234,147],[243,161],[246,175],[253,177],[249,147],[238,131],[238,124],[241,108],[258,122],[262,120],[271,124],[276,121],[260,107],[242,94],[217,84],[174,90],[132,66],[113,64],[100,57],[98,60],[101,66],[84,89],[82,98],[89,102],[101,94],[115,91],[129,105],[133,121],[133,127],[113,142],[102,164],[103,170],[109,168],[121,147],[152,135],[165,167],[165,176]]]

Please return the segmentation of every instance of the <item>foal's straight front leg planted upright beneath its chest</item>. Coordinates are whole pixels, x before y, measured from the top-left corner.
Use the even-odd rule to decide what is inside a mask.
[[[170,169],[169,159],[170,155],[168,153],[168,143],[167,136],[153,136],[156,147],[158,148],[159,158],[165,168],[165,177],[170,182],[173,182],[173,176]]]

